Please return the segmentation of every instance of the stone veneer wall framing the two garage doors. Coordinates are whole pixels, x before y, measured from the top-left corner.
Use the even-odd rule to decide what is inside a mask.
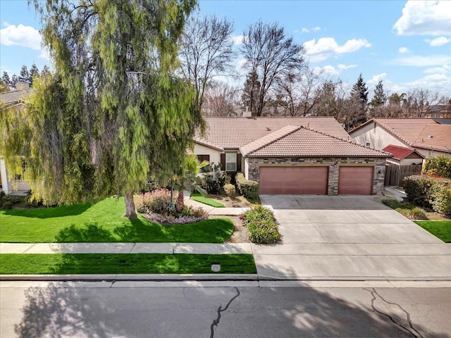
[[[248,180],[259,180],[259,168],[261,166],[311,166],[328,165],[328,195],[338,195],[338,173],[340,165],[371,165],[374,168],[373,194],[382,194],[385,176],[385,158],[248,158]]]

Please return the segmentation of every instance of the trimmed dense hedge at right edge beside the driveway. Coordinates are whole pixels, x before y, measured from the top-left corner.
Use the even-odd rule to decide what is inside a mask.
[[[402,185],[412,203],[451,216],[451,180],[413,175],[405,177]]]

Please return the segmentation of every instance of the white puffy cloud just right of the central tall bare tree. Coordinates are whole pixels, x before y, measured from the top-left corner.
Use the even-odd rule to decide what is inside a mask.
[[[337,54],[352,53],[362,47],[368,48],[371,44],[366,39],[350,39],[340,46],[333,37],[321,37],[318,42],[316,39],[304,42],[306,54],[311,62],[323,61]]]

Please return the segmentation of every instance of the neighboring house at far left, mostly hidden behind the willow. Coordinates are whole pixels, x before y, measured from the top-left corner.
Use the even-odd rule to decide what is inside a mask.
[[[7,106],[13,106],[22,109],[25,100],[30,95],[31,89],[15,90],[12,92],[4,92],[0,94],[0,101]],[[23,172],[26,163],[24,162],[20,172],[16,170],[8,170],[5,165],[4,158],[0,154],[0,191],[6,194],[18,193],[23,194],[30,190],[30,186],[23,180]]]

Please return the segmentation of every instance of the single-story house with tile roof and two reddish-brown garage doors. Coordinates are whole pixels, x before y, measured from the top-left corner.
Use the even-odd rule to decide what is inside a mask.
[[[259,181],[261,194],[381,194],[391,157],[332,117],[206,118],[194,143],[200,160]]]

